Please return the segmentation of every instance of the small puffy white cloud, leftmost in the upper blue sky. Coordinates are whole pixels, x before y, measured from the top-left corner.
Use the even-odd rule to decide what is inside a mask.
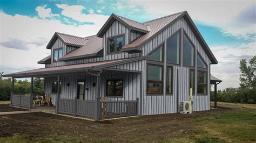
[[[45,9],[45,8],[46,8],[46,5],[36,7],[36,11],[38,13],[38,16],[41,17],[42,19],[59,17],[58,14],[51,13],[50,8],[48,8],[48,9]]]

